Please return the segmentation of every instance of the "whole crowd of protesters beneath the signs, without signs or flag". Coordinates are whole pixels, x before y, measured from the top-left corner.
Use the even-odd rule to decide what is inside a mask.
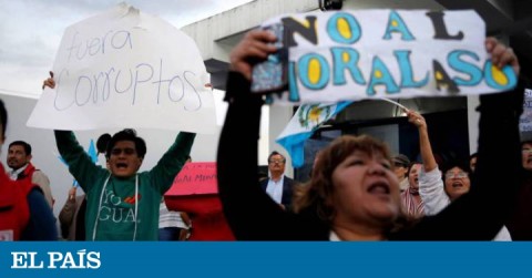
[[[231,53],[225,124],[217,150],[223,213],[237,240],[525,240],[532,239],[532,142],[520,142],[523,84],[480,96],[479,147],[470,161],[439,165],[424,117],[406,111],[419,133],[420,159],[392,155],[367,135],[341,135],[320,150],[307,183],[285,175],[286,157],[268,156],[257,172],[260,107],[252,94],[254,63],[277,49],[276,38],[249,31]],[[485,41],[493,64],[515,54]],[[49,78],[43,85],[54,87]],[[0,102],[0,138],[8,115]],[[247,126],[243,130],[242,126]],[[48,176],[31,164],[31,145],[9,145],[0,182],[0,240],[184,240],[186,213],[170,212],[164,193],[190,161],[195,134],[181,132],[158,163],[140,172],[146,143],[132,128],[99,142],[106,165],[95,165],[71,131],[54,131],[57,147],[78,182],[59,215]],[[235,155],[238,154],[238,155]],[[412,159],[411,159],[412,158]],[[236,166],[238,165],[238,167]],[[82,195],[76,193],[83,189]],[[3,209],[4,208],[4,209]]]

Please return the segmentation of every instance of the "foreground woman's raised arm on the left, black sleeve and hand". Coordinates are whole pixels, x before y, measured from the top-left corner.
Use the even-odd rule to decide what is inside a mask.
[[[288,239],[285,213],[258,183],[262,96],[252,94],[252,60],[264,60],[275,47],[267,31],[250,31],[231,54],[225,101],[229,103],[217,154],[218,191],[225,217],[239,240]],[[279,234],[277,234],[279,233]]]

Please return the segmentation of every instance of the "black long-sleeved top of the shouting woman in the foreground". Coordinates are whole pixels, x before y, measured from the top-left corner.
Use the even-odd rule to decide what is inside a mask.
[[[521,91],[520,91],[521,90]],[[479,156],[468,194],[436,216],[410,228],[390,231],[390,240],[491,240],[508,216],[521,166],[518,122],[523,89],[481,95]],[[217,154],[218,189],[225,217],[239,240],[328,240],[330,228],[313,208],[283,210],[257,185],[262,96],[232,72],[229,103]],[[235,167],[238,165],[238,167]],[[255,186],[254,186],[255,185]]]

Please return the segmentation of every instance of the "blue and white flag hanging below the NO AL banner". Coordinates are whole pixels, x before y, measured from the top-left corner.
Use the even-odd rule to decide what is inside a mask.
[[[352,101],[335,104],[305,104],[299,106],[288,125],[275,142],[282,145],[291,157],[291,166],[303,166],[304,144],[313,133],[329,119],[342,111]]]

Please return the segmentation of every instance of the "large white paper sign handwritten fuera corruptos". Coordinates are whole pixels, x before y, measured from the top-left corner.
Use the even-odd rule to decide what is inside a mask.
[[[216,130],[209,76],[195,42],[125,3],[69,27],[53,72],[55,90],[44,90],[29,126]]]

